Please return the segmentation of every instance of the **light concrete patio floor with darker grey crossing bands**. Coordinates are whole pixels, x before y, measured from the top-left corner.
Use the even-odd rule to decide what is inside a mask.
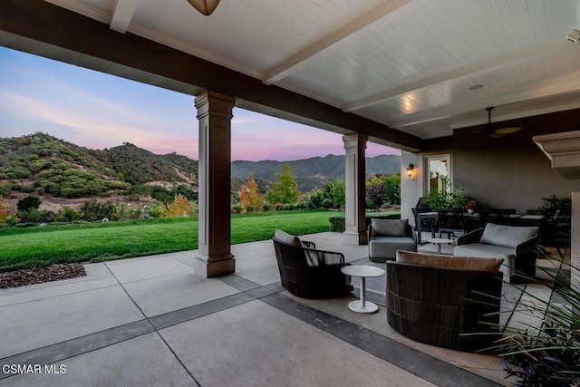
[[[301,238],[349,262],[367,256],[339,233]],[[195,276],[196,253],[90,264],[81,278],[0,290],[0,385],[509,385],[498,357],[406,339],[382,306],[356,314],[350,296],[289,295],[271,240],[232,246],[236,274],[219,278]]]

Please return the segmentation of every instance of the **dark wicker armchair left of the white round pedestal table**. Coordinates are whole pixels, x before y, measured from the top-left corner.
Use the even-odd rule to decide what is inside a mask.
[[[303,298],[328,298],[352,290],[351,277],[341,271],[350,265],[344,263],[342,253],[318,250],[313,242],[279,229],[273,241],[280,280],[288,292]]]

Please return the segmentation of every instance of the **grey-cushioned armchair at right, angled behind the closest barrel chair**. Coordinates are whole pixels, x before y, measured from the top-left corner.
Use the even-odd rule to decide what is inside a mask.
[[[504,226],[488,223],[458,238],[453,248],[455,256],[498,257],[504,259],[500,270],[504,279],[536,276],[536,253],[538,227]]]

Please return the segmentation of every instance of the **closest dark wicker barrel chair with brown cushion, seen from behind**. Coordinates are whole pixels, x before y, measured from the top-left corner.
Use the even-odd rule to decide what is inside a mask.
[[[459,351],[498,339],[503,259],[398,251],[387,262],[387,321],[412,340]]]

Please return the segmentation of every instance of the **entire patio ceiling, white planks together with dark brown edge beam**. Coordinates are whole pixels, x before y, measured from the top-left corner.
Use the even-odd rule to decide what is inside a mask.
[[[580,108],[576,0],[221,0],[209,16],[187,0],[0,7],[5,46],[402,150],[483,126],[490,106],[498,127]]]

